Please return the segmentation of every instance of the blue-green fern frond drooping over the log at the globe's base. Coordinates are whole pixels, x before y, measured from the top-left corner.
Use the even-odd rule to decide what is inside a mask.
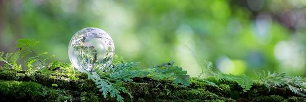
[[[131,98],[131,93],[122,86],[124,82],[133,81],[134,78],[139,75],[140,70],[134,67],[137,63],[122,62],[114,65],[112,70],[108,72],[97,71],[97,73],[88,73],[88,79],[95,81],[97,88],[100,88],[100,92],[106,98],[108,93],[111,97],[116,97],[117,101],[123,101],[121,92],[127,93]]]

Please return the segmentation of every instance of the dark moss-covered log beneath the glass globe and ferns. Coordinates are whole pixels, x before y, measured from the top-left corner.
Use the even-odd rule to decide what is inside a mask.
[[[52,71],[16,71],[0,68],[0,101],[116,101],[104,98],[93,81],[85,73],[78,73],[79,80],[69,80],[65,73]],[[305,97],[292,93],[287,87],[271,88],[254,83],[247,92],[231,81],[205,80],[216,83],[211,86],[203,79],[192,78],[191,84],[181,87],[171,81],[134,78],[124,83],[132,94],[122,93],[125,101],[306,101]]]

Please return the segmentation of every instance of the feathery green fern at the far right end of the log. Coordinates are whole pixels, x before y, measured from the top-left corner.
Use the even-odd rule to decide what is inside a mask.
[[[277,73],[277,72],[270,72],[270,71],[263,71],[255,72],[257,79],[259,82],[263,83],[269,91],[271,90],[270,87],[283,87],[288,86],[289,89],[298,95],[306,96],[305,94],[301,93],[301,87],[304,86],[303,78],[301,77],[291,77],[287,76],[286,73]]]

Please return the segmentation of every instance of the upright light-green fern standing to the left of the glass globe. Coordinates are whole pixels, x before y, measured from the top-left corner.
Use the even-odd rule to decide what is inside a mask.
[[[16,47],[19,48],[19,53],[21,58],[25,57],[28,54],[32,54],[33,57],[29,57],[27,62],[27,67],[28,70],[32,70],[33,68],[44,68],[45,66],[45,61],[55,57],[54,55],[49,56],[49,57],[45,57],[44,59],[41,59],[42,56],[48,55],[48,52],[43,52],[40,54],[36,54],[33,50],[33,47],[35,45],[37,45],[39,43],[39,41],[35,41],[34,39],[18,39],[17,40],[17,45]],[[33,63],[35,62],[39,62],[39,64],[33,65]]]

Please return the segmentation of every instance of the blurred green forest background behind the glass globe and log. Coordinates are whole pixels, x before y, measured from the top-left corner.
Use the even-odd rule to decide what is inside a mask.
[[[109,33],[117,55],[141,67],[174,61],[195,77],[201,69],[186,45],[224,73],[304,75],[305,7],[304,0],[0,0],[0,50],[34,38],[37,52],[69,62],[70,38],[96,27]]]

